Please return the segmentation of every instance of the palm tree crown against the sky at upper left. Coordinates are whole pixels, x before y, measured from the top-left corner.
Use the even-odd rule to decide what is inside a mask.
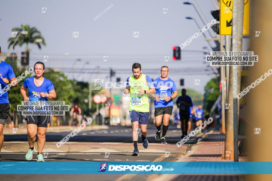
[[[11,31],[17,32],[15,38],[9,38],[8,42],[10,42],[8,48],[12,46],[14,47],[18,44],[20,47],[26,43],[26,51],[28,50],[28,43],[35,43],[39,49],[41,49],[41,44],[45,46],[45,39],[41,36],[40,31],[38,31],[35,27],[30,28],[29,25],[21,25],[20,28],[13,28]]]

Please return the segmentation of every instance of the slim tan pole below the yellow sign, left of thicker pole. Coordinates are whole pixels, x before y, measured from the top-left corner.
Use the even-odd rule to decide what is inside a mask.
[[[220,36],[220,51],[224,51],[223,36]],[[221,79],[221,133],[225,134],[225,74],[224,66],[220,66],[220,79]]]

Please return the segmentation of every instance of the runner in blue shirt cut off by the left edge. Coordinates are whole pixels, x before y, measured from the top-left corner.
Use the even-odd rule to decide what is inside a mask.
[[[0,56],[2,55],[0,47]],[[8,87],[16,87],[17,80],[10,64],[0,60],[0,152],[4,142],[3,129],[9,115],[10,105],[7,97]],[[11,81],[9,81],[11,80]],[[1,162],[1,154],[0,154]]]

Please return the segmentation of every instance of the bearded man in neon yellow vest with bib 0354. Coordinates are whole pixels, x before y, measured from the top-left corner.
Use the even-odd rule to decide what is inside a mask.
[[[134,63],[132,65],[133,76],[128,77],[127,85],[124,93],[130,93],[130,119],[132,122],[132,141],[134,151],[132,156],[138,156],[138,127],[142,131],[142,145],[148,147],[147,141],[147,124],[149,116],[148,94],[155,93],[155,87],[152,85],[152,80],[149,76],[142,74],[141,64]]]

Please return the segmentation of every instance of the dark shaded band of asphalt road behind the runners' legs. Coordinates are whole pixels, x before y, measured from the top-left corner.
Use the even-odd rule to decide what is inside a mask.
[[[151,143],[157,142],[155,140],[155,125],[148,125],[147,127],[147,137],[148,141]],[[63,137],[65,137],[70,132],[49,132],[46,133],[46,142],[59,142]],[[139,135],[139,142],[141,140],[141,133]],[[177,129],[176,126],[169,126],[167,131],[166,140],[169,144],[176,144],[176,142],[180,141],[181,130]],[[14,141],[27,141],[27,134],[7,134],[4,135],[5,142],[14,142]],[[194,139],[190,139],[188,144],[196,143],[197,137]],[[131,127],[125,126],[111,126],[109,129],[104,130],[82,130],[76,136],[71,137],[69,142],[123,142],[123,143],[131,143]]]

